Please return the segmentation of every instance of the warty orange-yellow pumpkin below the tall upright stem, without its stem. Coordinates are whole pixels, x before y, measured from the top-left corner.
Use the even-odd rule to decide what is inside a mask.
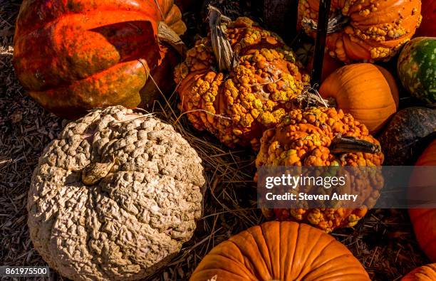
[[[281,38],[249,18],[223,26],[236,63],[229,72],[218,70],[210,35],[199,39],[175,70],[180,108],[195,128],[229,147],[254,144],[291,109],[308,76]]]

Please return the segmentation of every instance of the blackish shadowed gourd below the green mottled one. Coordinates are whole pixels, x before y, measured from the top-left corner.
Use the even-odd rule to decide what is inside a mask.
[[[436,132],[436,110],[408,107],[397,112],[380,136],[386,165],[415,163],[428,138]]]

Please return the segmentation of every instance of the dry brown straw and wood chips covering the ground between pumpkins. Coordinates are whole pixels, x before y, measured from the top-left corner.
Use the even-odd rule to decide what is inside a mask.
[[[43,147],[66,121],[33,102],[11,65],[14,21],[20,1],[0,0],[0,265],[44,265],[28,237],[26,198]],[[201,17],[199,17],[201,18]],[[167,267],[149,280],[187,280],[202,257],[222,240],[263,221],[256,209],[251,150],[228,149],[194,130],[177,108],[177,95],[155,105],[158,117],[174,124],[204,161],[204,216],[194,237]],[[373,210],[353,229],[333,235],[356,255],[373,280],[398,280],[428,262],[405,210]],[[56,272],[51,279],[63,280]],[[41,280],[41,278],[40,278]]]

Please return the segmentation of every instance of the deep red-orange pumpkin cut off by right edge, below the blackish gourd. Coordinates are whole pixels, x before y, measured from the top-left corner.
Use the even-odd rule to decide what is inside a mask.
[[[436,166],[436,140],[422,152],[415,165]],[[417,184],[421,178],[422,175],[412,174],[410,183]],[[436,263],[436,209],[410,208],[409,216],[422,250],[433,263]]]

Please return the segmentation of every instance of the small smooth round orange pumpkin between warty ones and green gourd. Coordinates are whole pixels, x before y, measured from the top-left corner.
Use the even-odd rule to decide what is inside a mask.
[[[398,110],[398,88],[393,76],[378,65],[356,63],[333,72],[321,85],[321,97],[378,132]]]

